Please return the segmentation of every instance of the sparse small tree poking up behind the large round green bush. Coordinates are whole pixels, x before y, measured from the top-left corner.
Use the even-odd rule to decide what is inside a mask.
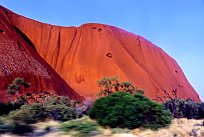
[[[118,77],[104,77],[97,82],[100,92],[98,96],[108,96],[115,92],[127,92],[130,94],[140,93],[144,94],[142,89],[138,89],[136,86],[132,85],[131,82],[119,82]]]

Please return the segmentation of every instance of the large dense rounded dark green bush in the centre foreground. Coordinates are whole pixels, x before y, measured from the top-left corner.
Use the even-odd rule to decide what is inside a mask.
[[[171,115],[163,105],[141,94],[133,96],[125,92],[99,98],[90,109],[89,116],[100,125],[112,128],[157,129],[171,123]]]

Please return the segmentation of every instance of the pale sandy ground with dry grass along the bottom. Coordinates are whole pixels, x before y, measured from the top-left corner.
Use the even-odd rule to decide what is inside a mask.
[[[187,119],[174,119],[169,128],[163,128],[158,131],[134,129],[128,133],[113,134],[111,129],[100,129],[102,134],[94,137],[204,137],[204,120],[187,120]],[[30,137],[72,137],[65,134],[58,129],[59,122],[48,121],[35,124],[36,130]],[[44,129],[49,126],[51,130],[45,131]],[[127,132],[127,130],[124,132]],[[19,137],[11,134],[3,134],[0,137]],[[22,136],[21,136],[22,137]]]

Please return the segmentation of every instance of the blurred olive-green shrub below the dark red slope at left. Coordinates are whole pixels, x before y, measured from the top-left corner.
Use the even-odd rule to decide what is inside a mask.
[[[32,124],[44,119],[67,121],[76,118],[74,109],[66,97],[47,97],[42,103],[23,105],[19,110],[12,111],[10,118],[17,123]]]

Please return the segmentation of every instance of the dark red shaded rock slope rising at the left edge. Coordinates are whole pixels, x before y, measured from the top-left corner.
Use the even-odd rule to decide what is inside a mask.
[[[8,12],[0,7],[0,101],[7,99],[6,88],[16,77],[22,77],[31,87],[26,92],[50,91],[82,98],[46,63],[28,39],[8,18]]]

